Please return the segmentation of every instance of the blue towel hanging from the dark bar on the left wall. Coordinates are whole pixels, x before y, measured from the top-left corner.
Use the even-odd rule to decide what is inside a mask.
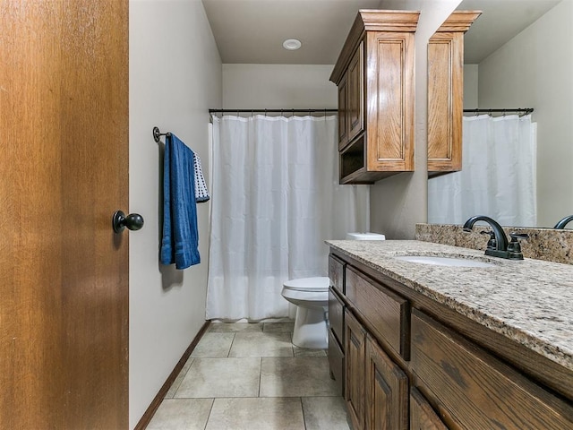
[[[186,269],[199,264],[193,151],[175,134],[167,135],[163,165],[161,263]]]

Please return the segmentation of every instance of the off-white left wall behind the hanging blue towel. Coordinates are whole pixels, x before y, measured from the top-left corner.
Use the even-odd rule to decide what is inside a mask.
[[[130,1],[130,428],[140,420],[205,320],[209,203],[198,205],[201,264],[159,266],[159,145],[171,131],[208,168],[210,107],[221,107],[221,61],[201,0]],[[113,138],[110,137],[110,138]]]

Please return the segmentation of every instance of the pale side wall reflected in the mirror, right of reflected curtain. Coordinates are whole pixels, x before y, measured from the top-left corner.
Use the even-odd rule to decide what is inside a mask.
[[[534,107],[537,220],[573,213],[573,1],[563,0],[479,64],[480,107]]]

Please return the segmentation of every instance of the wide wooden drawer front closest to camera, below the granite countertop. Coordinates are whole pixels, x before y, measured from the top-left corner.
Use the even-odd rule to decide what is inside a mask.
[[[457,428],[573,428],[571,406],[417,310],[411,368]]]

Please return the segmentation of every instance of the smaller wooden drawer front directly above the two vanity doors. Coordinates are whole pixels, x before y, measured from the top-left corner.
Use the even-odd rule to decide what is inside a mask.
[[[350,266],[346,266],[346,298],[380,340],[409,359],[410,305],[405,298]]]

